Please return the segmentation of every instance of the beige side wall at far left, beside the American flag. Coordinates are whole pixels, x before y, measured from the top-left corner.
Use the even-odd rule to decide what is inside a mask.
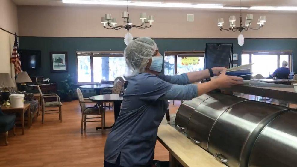
[[[0,27],[18,33],[17,7],[11,0],[0,0]],[[14,35],[0,30],[0,73],[11,73],[13,43]]]

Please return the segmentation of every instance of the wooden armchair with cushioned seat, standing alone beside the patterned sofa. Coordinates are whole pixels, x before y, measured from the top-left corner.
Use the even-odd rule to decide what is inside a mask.
[[[42,103],[42,123],[44,123],[44,115],[45,114],[59,114],[59,120],[62,122],[62,103],[60,101],[60,97],[55,94],[55,93],[50,93],[50,94],[43,94],[40,87],[37,85],[39,94],[40,94],[40,103]],[[56,97],[57,101],[51,101],[51,102],[45,102],[46,98],[53,98]],[[58,107],[59,109],[50,109],[46,110],[46,107]],[[58,111],[58,112],[53,112],[53,111]],[[46,113],[47,112],[47,113]]]

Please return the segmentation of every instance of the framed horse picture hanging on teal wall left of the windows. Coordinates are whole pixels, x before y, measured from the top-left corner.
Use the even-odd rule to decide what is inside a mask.
[[[50,52],[51,72],[68,72],[67,52]]]

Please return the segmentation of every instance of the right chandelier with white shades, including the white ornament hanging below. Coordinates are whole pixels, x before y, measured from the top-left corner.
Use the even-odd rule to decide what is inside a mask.
[[[242,24],[242,13],[241,13],[241,0],[240,0],[240,17],[239,17],[239,27],[236,27],[236,24],[235,24],[235,21],[236,21],[236,17],[235,16],[230,16],[229,17],[229,22],[230,22],[230,28],[223,28],[223,25],[224,25],[224,19],[223,18],[219,18],[218,19],[218,26],[220,28],[220,31],[230,31],[232,30],[233,32],[235,31],[240,31],[240,35],[238,36],[238,44],[240,46],[243,46],[243,43],[244,43],[244,37],[243,35],[241,34],[241,32],[243,30],[245,31],[248,31],[248,29],[252,29],[252,30],[258,30],[260,28],[263,27],[264,23],[267,21],[266,20],[266,16],[260,16],[260,18],[258,19],[258,22],[257,24],[259,25],[259,27],[256,27],[256,28],[253,28],[251,27],[251,21],[254,19],[253,18],[253,14],[247,14],[246,15],[246,21],[245,21],[245,24],[243,26]]]

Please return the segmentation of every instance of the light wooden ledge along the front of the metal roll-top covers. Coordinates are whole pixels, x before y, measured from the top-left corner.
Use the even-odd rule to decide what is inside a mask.
[[[168,124],[159,126],[158,140],[169,151],[170,167],[227,167]]]

